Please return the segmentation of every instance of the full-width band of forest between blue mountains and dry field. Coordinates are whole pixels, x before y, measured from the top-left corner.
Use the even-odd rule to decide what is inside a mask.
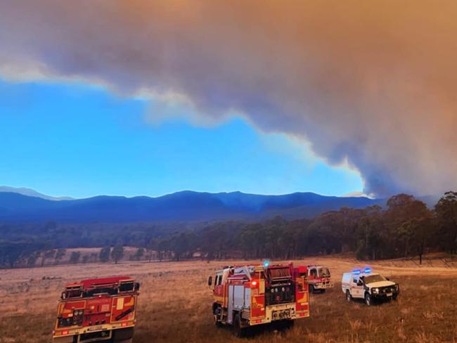
[[[341,208],[314,219],[198,224],[0,226],[0,266],[37,264],[46,253],[69,247],[138,247],[132,259],[296,259],[311,254],[354,252],[358,259],[457,253],[457,193],[447,192],[432,209],[412,195],[394,195],[385,208]],[[77,257],[74,257],[75,261]],[[107,261],[101,257],[98,259]],[[77,261],[80,261],[79,258]],[[30,263],[29,263],[30,262]],[[42,263],[42,262],[39,262]],[[38,263],[38,264],[39,264]]]

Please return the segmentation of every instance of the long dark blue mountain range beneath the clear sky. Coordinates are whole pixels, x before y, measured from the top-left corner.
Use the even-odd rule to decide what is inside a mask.
[[[182,191],[157,198],[97,196],[75,200],[48,200],[14,192],[0,193],[0,221],[134,222],[255,220],[282,215],[311,218],[340,207],[384,205],[385,200],[331,197],[315,193],[255,195],[241,192]]]

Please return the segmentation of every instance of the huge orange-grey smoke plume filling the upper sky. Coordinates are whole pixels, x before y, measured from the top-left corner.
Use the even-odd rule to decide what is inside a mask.
[[[457,186],[455,18],[455,1],[3,0],[0,75],[240,113],[368,194],[437,194]]]

